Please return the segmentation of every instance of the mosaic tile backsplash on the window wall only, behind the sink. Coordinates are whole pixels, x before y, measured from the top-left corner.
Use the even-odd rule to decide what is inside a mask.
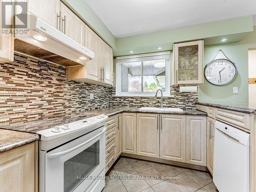
[[[109,104],[112,106],[152,106],[160,107],[161,98],[158,97],[116,97],[116,88],[110,90]],[[160,94],[159,94],[160,95]],[[178,86],[170,87],[170,97],[163,97],[163,106],[169,108],[181,108],[183,110],[195,110],[198,101],[198,92],[179,92]]]

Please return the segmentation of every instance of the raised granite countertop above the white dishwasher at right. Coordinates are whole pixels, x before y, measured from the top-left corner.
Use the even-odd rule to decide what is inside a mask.
[[[238,111],[243,113],[256,113],[256,109],[251,109],[248,105],[239,104],[239,103],[206,103],[206,102],[196,102],[196,104],[211,106],[213,108],[221,108],[231,111]]]

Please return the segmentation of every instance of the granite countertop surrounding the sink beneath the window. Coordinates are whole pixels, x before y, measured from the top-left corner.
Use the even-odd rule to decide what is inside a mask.
[[[94,114],[100,115],[104,114],[107,116],[116,115],[122,112],[133,112],[133,113],[161,113],[161,114],[181,114],[181,115],[207,115],[207,113],[199,111],[199,110],[184,110],[183,112],[166,112],[166,111],[141,111],[140,108],[129,108],[129,107],[118,107],[118,106],[111,106],[109,108],[91,110],[88,112],[84,112],[87,114]]]

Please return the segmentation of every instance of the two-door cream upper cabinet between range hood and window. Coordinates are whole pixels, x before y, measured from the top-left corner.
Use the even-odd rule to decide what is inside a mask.
[[[113,50],[88,26],[86,47],[94,52],[94,59],[86,62],[85,66],[68,68],[68,79],[113,86]]]

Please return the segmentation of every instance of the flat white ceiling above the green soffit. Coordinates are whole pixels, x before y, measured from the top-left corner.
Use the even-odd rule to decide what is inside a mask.
[[[256,14],[256,0],[84,0],[115,37]]]

